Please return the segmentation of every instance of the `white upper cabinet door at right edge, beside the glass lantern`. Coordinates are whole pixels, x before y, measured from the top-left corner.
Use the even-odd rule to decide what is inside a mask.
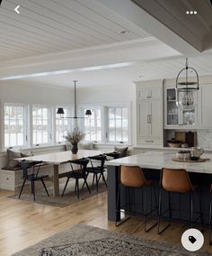
[[[211,110],[212,110],[212,85],[203,85],[200,87],[200,111],[199,111],[199,119],[200,126],[203,128],[211,128],[212,127],[212,118],[211,118]]]

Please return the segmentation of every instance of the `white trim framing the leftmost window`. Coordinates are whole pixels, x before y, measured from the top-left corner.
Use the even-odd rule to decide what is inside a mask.
[[[11,103],[11,102],[3,102],[1,104],[1,134],[2,134],[2,143],[1,143],[1,148],[6,150],[5,144],[4,144],[4,107],[5,106],[22,106],[23,107],[23,118],[24,118],[24,123],[23,123],[23,145],[17,145],[17,146],[11,146],[13,149],[20,149],[20,148],[26,148],[29,146],[29,136],[28,136],[28,129],[29,129],[29,123],[27,122],[28,116],[29,116],[29,109],[28,105],[24,103]]]

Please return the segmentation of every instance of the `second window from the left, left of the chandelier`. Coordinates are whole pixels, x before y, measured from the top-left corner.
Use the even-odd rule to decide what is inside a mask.
[[[34,145],[48,144],[50,135],[49,107],[32,107],[32,142]]]

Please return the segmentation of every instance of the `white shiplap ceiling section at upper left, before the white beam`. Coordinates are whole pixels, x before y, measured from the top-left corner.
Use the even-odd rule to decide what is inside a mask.
[[[149,36],[95,0],[4,0],[0,8],[0,61]]]

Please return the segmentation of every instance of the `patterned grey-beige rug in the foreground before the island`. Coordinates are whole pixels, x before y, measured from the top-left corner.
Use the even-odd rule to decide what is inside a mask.
[[[93,226],[76,224],[13,256],[205,256],[208,252],[188,252],[181,246],[147,241]]]

